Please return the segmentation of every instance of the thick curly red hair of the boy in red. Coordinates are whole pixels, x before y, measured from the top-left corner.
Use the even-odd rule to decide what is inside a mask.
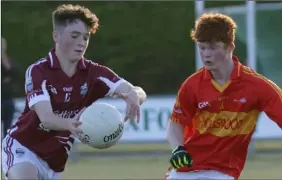
[[[205,13],[195,22],[191,38],[196,42],[223,42],[231,44],[235,41],[237,25],[235,21],[224,14]]]

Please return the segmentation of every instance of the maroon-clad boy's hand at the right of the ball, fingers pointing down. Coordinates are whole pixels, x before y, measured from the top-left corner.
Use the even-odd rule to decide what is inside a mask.
[[[138,93],[135,90],[129,93],[120,93],[120,97],[126,102],[126,115],[124,121],[130,119],[130,123],[134,122],[135,117],[137,118],[137,123],[140,121],[140,102]]]

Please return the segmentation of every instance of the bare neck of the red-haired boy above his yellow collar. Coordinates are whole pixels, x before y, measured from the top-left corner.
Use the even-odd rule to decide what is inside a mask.
[[[211,71],[213,79],[219,84],[225,84],[229,81],[234,68],[234,62],[232,58],[226,61],[226,63],[224,63],[222,67],[223,68],[220,68],[218,70]]]

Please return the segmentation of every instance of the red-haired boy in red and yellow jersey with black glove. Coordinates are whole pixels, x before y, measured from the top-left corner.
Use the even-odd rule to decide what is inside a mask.
[[[282,92],[233,55],[236,23],[203,14],[191,31],[204,67],[181,85],[168,142],[166,179],[238,179],[259,112],[282,128]]]

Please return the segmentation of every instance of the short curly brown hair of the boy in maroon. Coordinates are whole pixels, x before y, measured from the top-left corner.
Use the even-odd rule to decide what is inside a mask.
[[[56,8],[52,13],[53,29],[58,26],[66,26],[75,20],[81,20],[95,34],[99,27],[99,19],[88,8],[80,5],[63,4]]]

